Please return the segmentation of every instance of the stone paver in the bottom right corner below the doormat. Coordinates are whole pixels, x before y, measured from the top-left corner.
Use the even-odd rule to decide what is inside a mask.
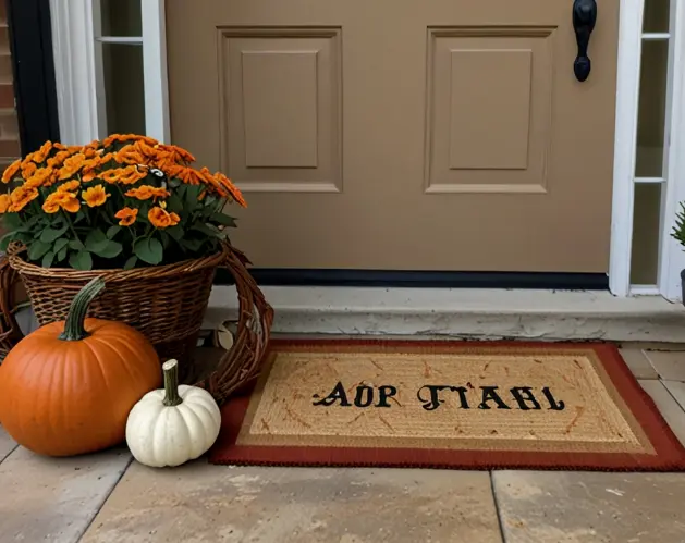
[[[685,473],[501,471],[506,543],[683,543]]]

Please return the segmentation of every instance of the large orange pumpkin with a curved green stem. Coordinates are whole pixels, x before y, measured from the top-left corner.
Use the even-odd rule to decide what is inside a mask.
[[[133,406],[161,385],[159,358],[143,334],[86,318],[103,287],[101,279],[88,283],[66,321],[24,337],[0,366],[0,423],[35,453],[71,456],[123,442]]]

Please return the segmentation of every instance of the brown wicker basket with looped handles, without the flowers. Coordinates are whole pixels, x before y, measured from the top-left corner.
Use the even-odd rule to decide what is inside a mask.
[[[0,356],[11,349],[22,333],[14,319],[14,284],[26,287],[40,325],[64,320],[74,295],[91,279],[106,281],[102,294],[91,304],[89,317],[125,322],[155,345],[162,360],[176,358],[184,382],[207,388],[219,402],[259,372],[268,344],[273,311],[245,264],[244,255],[228,244],[216,255],[168,266],[134,270],[77,271],[47,269],[28,263],[24,248],[12,245],[0,262]],[[233,347],[207,374],[193,367],[193,351],[217,268],[233,275],[240,301],[237,333]]]

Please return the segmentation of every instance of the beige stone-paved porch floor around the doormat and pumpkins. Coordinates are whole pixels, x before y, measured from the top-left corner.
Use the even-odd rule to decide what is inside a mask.
[[[624,345],[685,443],[685,347]],[[678,348],[678,347],[676,347]],[[0,433],[0,542],[683,543],[685,473],[219,467],[125,448],[37,457]]]

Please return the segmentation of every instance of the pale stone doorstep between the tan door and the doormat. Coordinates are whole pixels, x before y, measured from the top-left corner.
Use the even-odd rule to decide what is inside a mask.
[[[685,308],[607,291],[262,286],[274,333],[685,343]],[[236,314],[212,288],[205,328]]]

